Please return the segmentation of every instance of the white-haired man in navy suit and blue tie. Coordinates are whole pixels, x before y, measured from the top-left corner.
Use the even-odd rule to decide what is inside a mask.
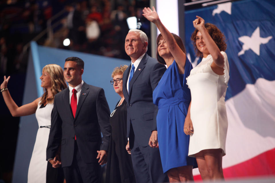
[[[163,174],[158,144],[153,91],[166,67],[147,55],[148,38],[132,29],[125,38],[125,51],[131,65],[123,74],[123,94],[127,102],[126,150],[131,154],[137,183],[168,182]],[[148,143],[149,142],[149,143]],[[153,148],[151,148],[153,147]]]

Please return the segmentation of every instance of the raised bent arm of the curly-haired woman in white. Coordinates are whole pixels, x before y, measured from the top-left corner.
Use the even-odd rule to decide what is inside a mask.
[[[224,58],[221,54],[221,51],[219,47],[216,45],[215,41],[212,39],[212,37],[207,32],[205,26],[204,26],[204,19],[202,17],[196,16],[197,19],[193,21],[193,25],[196,29],[198,29],[201,32],[201,35],[205,41],[206,47],[210,53],[210,55],[213,58],[213,63],[211,66],[217,65],[218,67],[223,68],[224,66]],[[215,65],[213,65],[215,64]]]

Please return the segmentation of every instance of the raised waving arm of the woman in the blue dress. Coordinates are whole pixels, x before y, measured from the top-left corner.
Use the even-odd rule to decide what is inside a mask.
[[[148,19],[149,21],[151,21],[154,24],[156,24],[156,26],[160,30],[160,33],[161,33],[162,37],[166,41],[167,46],[168,46],[171,54],[173,55],[176,63],[180,67],[179,69],[181,71],[183,69],[183,73],[184,73],[184,66],[185,66],[185,61],[186,61],[186,55],[180,49],[180,47],[178,46],[178,44],[176,43],[176,40],[173,37],[173,35],[168,31],[168,29],[166,29],[166,27],[160,21],[160,18],[158,17],[158,14],[156,12],[155,7],[153,7],[153,11],[149,7],[148,8],[144,8],[142,15],[146,19]]]

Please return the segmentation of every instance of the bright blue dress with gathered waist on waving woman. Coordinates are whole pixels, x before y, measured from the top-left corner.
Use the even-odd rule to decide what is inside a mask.
[[[189,135],[184,134],[183,128],[191,101],[186,77],[192,68],[186,58],[184,74],[180,74],[174,60],[153,92],[153,102],[158,106],[158,143],[164,173],[186,165],[197,168],[196,159],[188,157]]]

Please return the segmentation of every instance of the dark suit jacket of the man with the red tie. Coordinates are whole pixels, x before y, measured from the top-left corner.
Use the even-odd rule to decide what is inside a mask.
[[[97,150],[108,151],[110,110],[102,88],[83,83],[75,118],[70,107],[69,88],[64,89],[54,97],[51,118],[47,160],[56,156],[61,145],[61,165],[70,166],[74,156],[74,135],[85,163],[98,162]]]

